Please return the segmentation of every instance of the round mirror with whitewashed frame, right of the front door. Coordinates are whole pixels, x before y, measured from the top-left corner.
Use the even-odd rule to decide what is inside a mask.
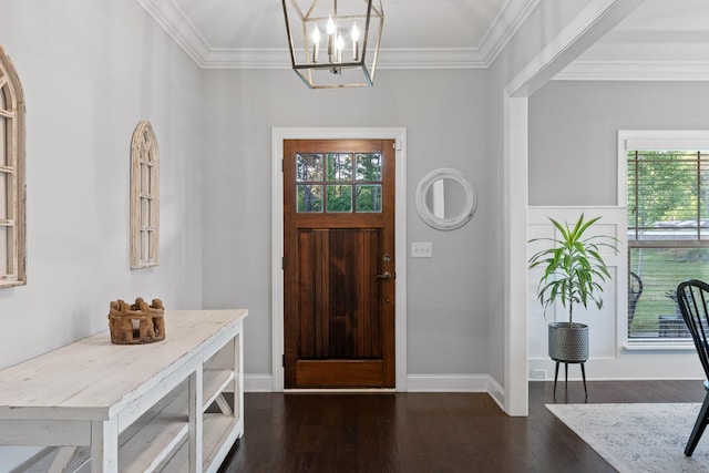
[[[440,230],[465,225],[475,213],[477,196],[465,174],[444,167],[431,171],[417,186],[417,210],[423,222]]]

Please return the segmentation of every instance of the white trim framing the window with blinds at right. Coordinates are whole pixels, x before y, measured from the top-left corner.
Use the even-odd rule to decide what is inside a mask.
[[[618,206],[625,208],[626,222],[628,212],[627,152],[628,150],[709,150],[709,130],[619,130],[618,131]],[[621,248],[628,247],[627,233],[620,235]],[[627,291],[626,282],[623,287]],[[619,288],[620,290],[620,288]],[[625,311],[624,311],[625,313]],[[628,340],[628,318],[618,317],[618,335],[625,350],[693,350],[691,340],[670,339]]]

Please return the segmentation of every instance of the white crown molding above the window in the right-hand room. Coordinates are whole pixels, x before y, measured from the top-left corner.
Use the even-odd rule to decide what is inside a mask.
[[[555,81],[709,81],[709,61],[576,61]]]

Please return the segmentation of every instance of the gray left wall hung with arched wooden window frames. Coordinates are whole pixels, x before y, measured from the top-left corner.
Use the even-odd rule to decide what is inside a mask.
[[[134,0],[2,0],[0,43],[27,100],[28,189],[28,285],[0,290],[0,368],[106,330],[116,298],[198,308],[198,68]],[[131,271],[141,120],[161,151],[161,265]],[[0,471],[24,455],[0,448]]]

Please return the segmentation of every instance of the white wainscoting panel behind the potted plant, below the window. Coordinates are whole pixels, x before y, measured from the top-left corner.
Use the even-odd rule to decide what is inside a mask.
[[[626,320],[627,291],[627,223],[626,209],[618,206],[535,206],[528,208],[527,235],[530,239],[555,237],[552,217],[569,225],[585,214],[587,218],[600,216],[594,226],[596,234],[612,235],[618,239],[618,254],[604,251],[613,279],[604,286],[604,308],[595,306],[587,310],[574,309],[574,321],[587,323],[590,338],[590,358],[586,363],[589,380],[653,380],[653,379],[701,379],[702,371],[693,348],[647,347],[627,348]],[[590,234],[593,235],[593,233]],[[527,245],[527,256],[545,247],[544,241]],[[527,327],[528,327],[528,378],[531,380],[554,379],[554,362],[547,354],[547,325],[549,321],[567,320],[563,308],[549,308],[544,317],[536,298],[541,269],[527,277]],[[559,377],[563,378],[563,368]],[[569,368],[569,379],[579,380],[580,369]]]

